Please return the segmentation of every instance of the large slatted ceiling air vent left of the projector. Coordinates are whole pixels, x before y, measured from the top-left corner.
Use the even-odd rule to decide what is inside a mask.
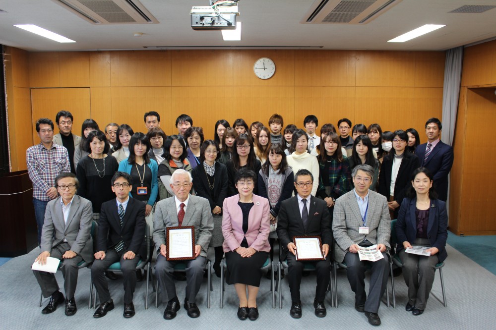
[[[93,24],[147,24],[157,19],[138,0],[52,0]]]

